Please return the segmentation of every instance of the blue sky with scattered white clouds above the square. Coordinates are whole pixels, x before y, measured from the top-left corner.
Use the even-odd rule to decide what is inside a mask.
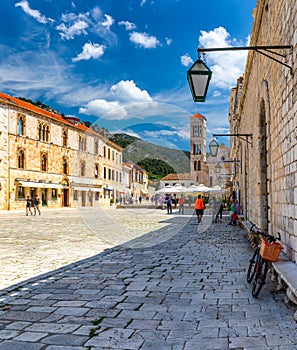
[[[208,53],[207,100],[194,103],[186,72],[197,48],[248,45],[255,6],[256,0],[2,1],[0,90],[111,132],[188,149],[194,113],[207,118],[209,138],[229,132],[230,88],[247,54]]]

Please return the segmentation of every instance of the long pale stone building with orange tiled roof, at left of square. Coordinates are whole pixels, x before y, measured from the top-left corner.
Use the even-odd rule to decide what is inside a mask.
[[[0,209],[35,194],[49,208],[110,203],[122,189],[122,148],[75,117],[0,93]]]

